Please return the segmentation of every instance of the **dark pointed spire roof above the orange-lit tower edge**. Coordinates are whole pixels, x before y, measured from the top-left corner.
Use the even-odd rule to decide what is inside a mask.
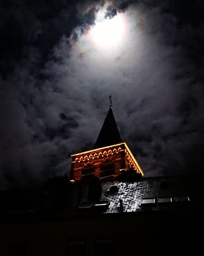
[[[120,138],[120,133],[115,122],[112,106],[110,106],[94,148],[110,146],[120,142],[122,142],[122,140]]]

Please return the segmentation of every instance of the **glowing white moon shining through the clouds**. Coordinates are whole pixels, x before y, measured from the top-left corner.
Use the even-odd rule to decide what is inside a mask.
[[[103,48],[118,46],[125,35],[125,22],[121,14],[113,19],[96,22],[89,32],[91,41]]]

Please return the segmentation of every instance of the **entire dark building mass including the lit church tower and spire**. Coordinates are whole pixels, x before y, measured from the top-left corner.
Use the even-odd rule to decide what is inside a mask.
[[[112,105],[71,178],[0,192],[0,255],[202,255],[203,176],[143,176]]]

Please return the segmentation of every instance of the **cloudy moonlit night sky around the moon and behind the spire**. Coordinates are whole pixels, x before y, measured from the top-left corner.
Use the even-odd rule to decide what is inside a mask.
[[[118,17],[118,42],[90,39]],[[0,188],[69,174],[110,95],[145,176],[203,172],[203,82],[203,1],[1,1]]]

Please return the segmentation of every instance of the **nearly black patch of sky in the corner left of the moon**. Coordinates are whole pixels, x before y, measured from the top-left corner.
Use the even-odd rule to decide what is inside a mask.
[[[78,13],[77,6],[83,6],[81,11],[85,11],[91,5],[89,2],[81,2],[83,1],[1,1],[0,71],[3,79],[15,68],[16,62],[30,54],[32,48],[40,53],[39,64],[43,66],[63,35],[69,38],[77,25],[82,22],[92,23],[96,11],[94,7],[99,5],[91,1],[93,7],[83,14]]]

